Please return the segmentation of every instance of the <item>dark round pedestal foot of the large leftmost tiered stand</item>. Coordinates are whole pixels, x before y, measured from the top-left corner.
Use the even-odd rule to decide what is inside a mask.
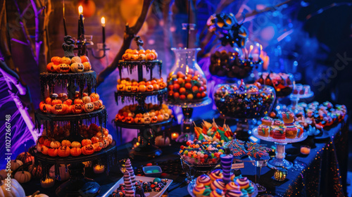
[[[69,167],[71,177],[56,189],[56,196],[97,196],[101,186],[93,179],[84,177],[84,164],[75,163]]]

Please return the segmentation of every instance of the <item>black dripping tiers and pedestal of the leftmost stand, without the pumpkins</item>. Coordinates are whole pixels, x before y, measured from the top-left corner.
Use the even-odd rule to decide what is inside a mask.
[[[55,89],[67,89],[68,98],[73,99],[75,97],[75,91],[77,87],[80,89],[80,95],[83,94],[84,87],[87,87],[88,94],[92,93],[92,89],[96,89],[96,73],[94,71],[78,72],[78,73],[42,73],[40,74],[40,83],[42,91],[42,100],[44,100],[44,94],[53,94]],[[82,141],[85,139],[79,132],[80,126],[83,124],[89,125],[89,123],[98,123],[103,127],[106,127],[107,113],[105,106],[101,106],[98,110],[94,110],[91,113],[84,113],[74,115],[54,115],[48,113],[42,113],[37,110],[35,112],[35,122],[38,131],[43,128],[46,129],[48,137],[55,137],[57,140],[68,139],[69,141]],[[53,128],[55,125],[69,125],[70,135],[69,136],[53,136]],[[51,132],[48,132],[51,131]],[[102,130],[101,130],[102,132]],[[59,167],[65,165],[66,170],[70,172],[70,179],[64,182],[56,189],[57,196],[96,196],[101,186],[94,182],[93,179],[84,177],[84,164],[85,161],[99,160],[100,163],[106,165],[106,172],[108,173],[111,166],[115,163],[116,148],[115,141],[109,146],[103,148],[101,151],[93,153],[92,155],[80,155],[77,157],[68,156],[65,158],[51,157],[44,155],[43,153],[35,152],[34,157],[36,162],[39,162],[43,168],[43,178],[49,177],[49,169],[52,165],[55,165],[56,179],[60,180]]]

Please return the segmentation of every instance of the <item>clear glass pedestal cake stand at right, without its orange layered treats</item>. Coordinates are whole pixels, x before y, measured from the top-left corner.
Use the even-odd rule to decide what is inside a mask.
[[[295,139],[273,139],[271,136],[260,136],[258,134],[258,128],[253,129],[253,135],[258,139],[263,139],[265,141],[272,141],[276,144],[275,158],[268,161],[268,167],[275,169],[276,167],[285,167],[287,169],[291,168],[293,165],[288,160],[285,160],[285,146],[289,143],[295,143],[303,141],[308,137],[307,132],[303,132],[300,137]]]

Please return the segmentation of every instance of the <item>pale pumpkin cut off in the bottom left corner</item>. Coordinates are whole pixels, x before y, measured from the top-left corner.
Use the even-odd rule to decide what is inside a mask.
[[[8,182],[8,181],[11,181],[11,182]],[[6,188],[8,188],[7,184],[11,184],[11,191],[6,190]],[[25,197],[25,190],[16,181],[16,179],[1,180],[0,181],[0,196],[4,196],[4,197]]]

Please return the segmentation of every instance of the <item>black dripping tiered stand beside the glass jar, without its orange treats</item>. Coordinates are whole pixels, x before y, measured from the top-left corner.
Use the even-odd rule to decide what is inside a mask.
[[[118,68],[120,70],[120,79],[122,79],[122,69],[127,69],[132,75],[132,72],[137,70],[138,82],[142,82],[144,79],[144,70],[149,72],[150,80],[153,79],[153,68],[158,68],[159,77],[161,77],[161,61],[120,61]],[[167,89],[159,89],[156,91],[144,91],[144,92],[126,92],[126,91],[116,91],[115,100],[118,104],[119,101],[122,103],[127,102],[137,102],[137,110],[135,113],[146,113],[145,108],[146,101],[157,102],[160,106],[163,103],[163,99],[166,95]],[[118,129],[118,138],[122,143],[122,128],[126,129],[137,129],[138,130],[138,141],[137,145],[132,147],[130,150],[130,157],[148,157],[153,158],[155,156],[161,155],[162,151],[158,146],[155,145],[155,132],[162,126],[167,125],[172,122],[173,118],[170,117],[168,120],[163,122],[155,122],[149,124],[135,124],[127,123],[119,120],[115,121],[115,126]]]

